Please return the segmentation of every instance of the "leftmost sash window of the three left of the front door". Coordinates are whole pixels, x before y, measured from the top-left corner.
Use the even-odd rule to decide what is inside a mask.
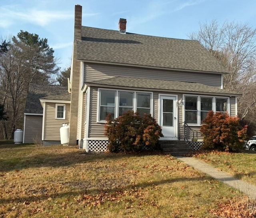
[[[116,91],[100,90],[100,121],[105,121],[106,116],[111,114],[115,118]]]

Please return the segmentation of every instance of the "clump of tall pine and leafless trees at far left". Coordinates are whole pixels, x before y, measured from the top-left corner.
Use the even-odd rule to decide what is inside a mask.
[[[23,123],[23,111],[30,83],[49,84],[59,68],[47,39],[20,31],[17,37],[1,41],[0,103],[9,119],[3,122],[3,138],[13,137]]]

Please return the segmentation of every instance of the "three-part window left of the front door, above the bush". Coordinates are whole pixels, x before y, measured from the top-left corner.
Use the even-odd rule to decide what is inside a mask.
[[[126,90],[99,89],[98,121],[104,122],[106,116],[122,116],[130,110],[139,114],[152,114],[152,93]]]

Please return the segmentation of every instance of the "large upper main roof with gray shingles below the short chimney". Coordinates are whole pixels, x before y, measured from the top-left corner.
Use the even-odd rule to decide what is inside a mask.
[[[77,57],[83,61],[228,73],[198,41],[82,26]]]

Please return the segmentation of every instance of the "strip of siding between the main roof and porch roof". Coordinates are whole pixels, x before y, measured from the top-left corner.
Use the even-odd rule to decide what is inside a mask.
[[[84,66],[85,82],[107,79],[113,76],[198,82],[218,88],[221,87],[221,75],[214,73],[168,71],[96,63],[86,63]]]

